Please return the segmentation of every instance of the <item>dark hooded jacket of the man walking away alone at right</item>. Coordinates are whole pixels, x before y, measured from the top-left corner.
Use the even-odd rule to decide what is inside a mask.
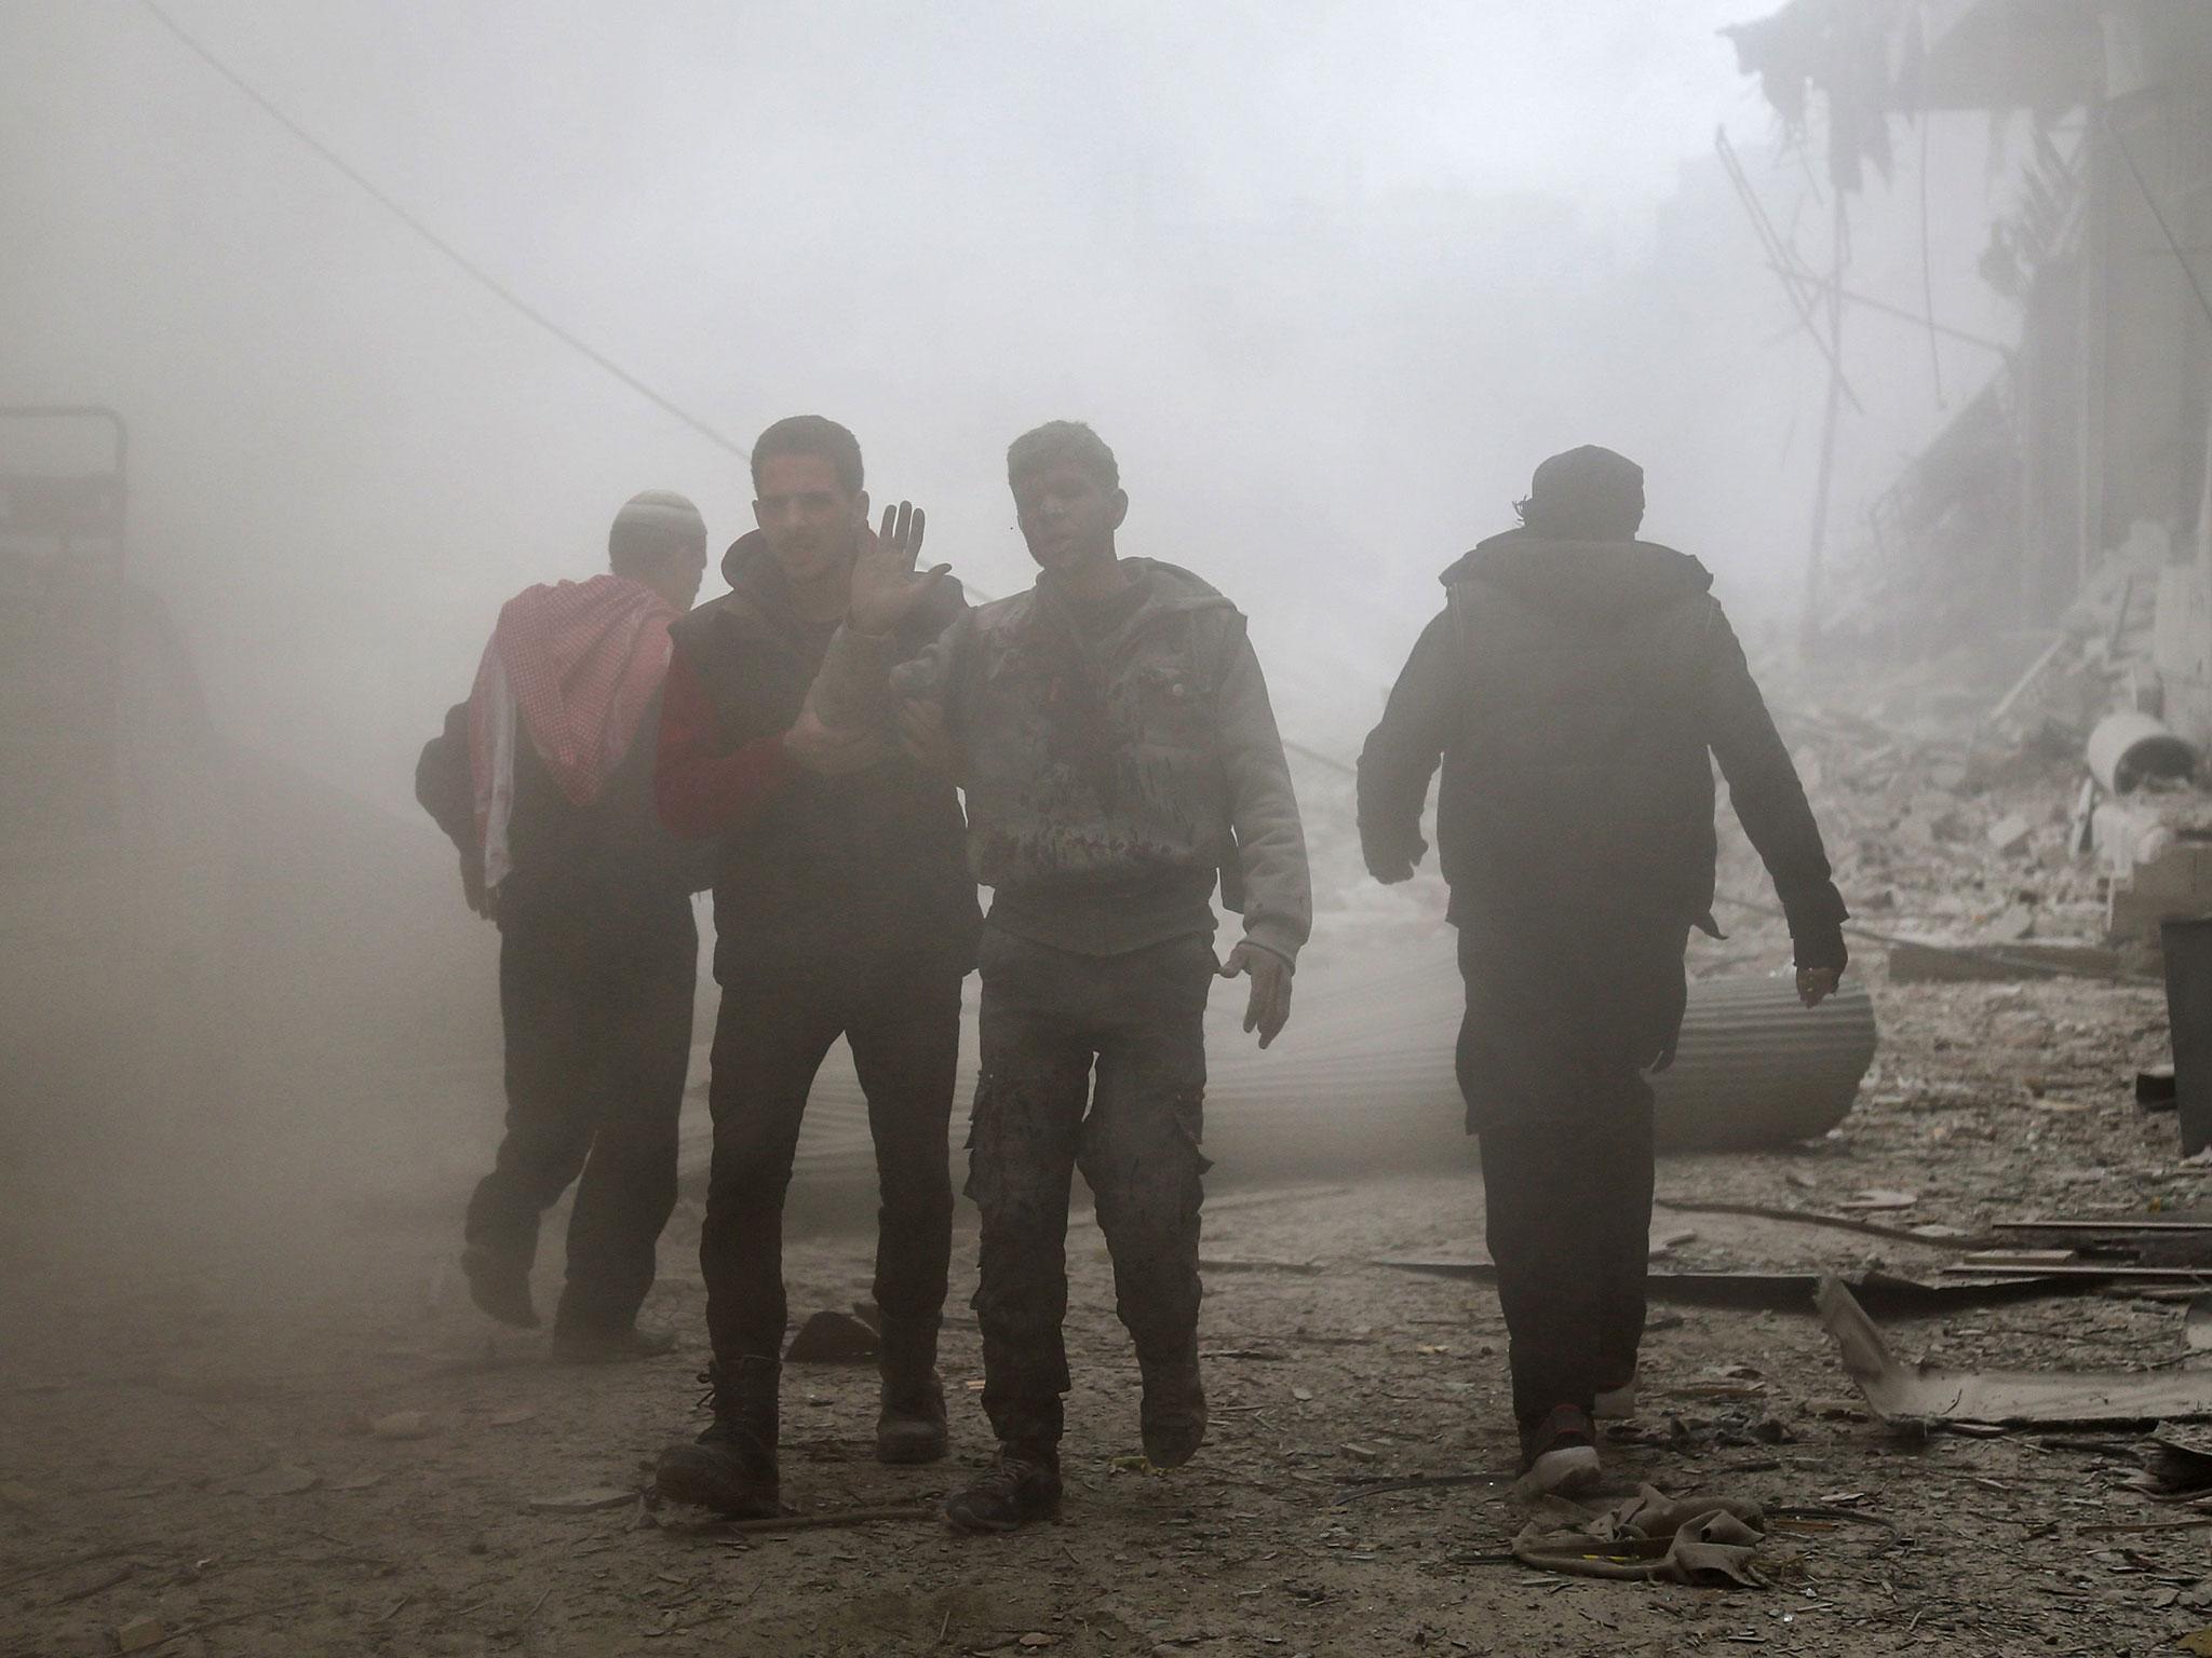
[[[1820,831],[1703,564],[1652,542],[1511,531],[1442,581],[1444,610],[1360,754],[1371,867],[1427,849],[1420,809],[1442,760],[1438,842],[1460,926],[1575,913],[1710,928],[1719,760],[1798,964],[1843,964]]]

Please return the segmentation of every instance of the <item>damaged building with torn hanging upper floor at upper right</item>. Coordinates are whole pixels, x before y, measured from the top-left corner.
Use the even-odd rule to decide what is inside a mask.
[[[1816,508],[1809,643],[2013,652],[1980,723],[2084,754],[2108,931],[2154,944],[2212,909],[2212,811],[2183,787],[2212,743],[2212,7],[1792,0],[1728,33],[1838,225],[1905,188],[1929,124],[1986,124],[1978,272],[2017,321],[1863,515]],[[1924,170],[1920,190],[1927,237]],[[1823,301],[1845,281],[1843,254],[1792,259],[1807,329],[1840,325]]]

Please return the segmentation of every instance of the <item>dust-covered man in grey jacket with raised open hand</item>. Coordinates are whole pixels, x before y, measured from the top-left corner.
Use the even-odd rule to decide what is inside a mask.
[[[982,940],[982,1077],[969,1196],[982,1209],[982,1404],[998,1463],[945,1501],[962,1530],[1060,1505],[1068,1357],[1068,1185],[1097,1196],[1115,1311],[1144,1375],[1161,1468],[1206,1437],[1199,1377],[1199,1152],[1206,993],[1252,975],[1245,1030],[1290,1019],[1312,928],[1305,833],[1267,685],[1237,608],[1188,570],[1124,559],[1113,451],[1053,422],[1006,451],[1037,586],[962,617],[898,674],[907,738],[967,787],[969,858],[993,889]],[[816,685],[832,727],[865,721],[936,577],[872,544]],[[1243,942],[1212,953],[1217,875]],[[1088,1110],[1086,1110],[1088,1108]]]

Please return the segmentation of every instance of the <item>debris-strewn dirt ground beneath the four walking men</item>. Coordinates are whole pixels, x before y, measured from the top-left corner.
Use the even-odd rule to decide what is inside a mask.
[[[1849,1123],[1787,1154],[1686,1156],[1661,1194],[1834,1207],[1913,1194],[1898,1222],[2199,1200],[2137,1063],[2163,1057],[2159,993],[2086,984],[1887,988],[1885,1050]],[[478,1125],[482,1127],[482,1125]],[[701,1289],[686,1207],[650,1315],[666,1362],[557,1368],[491,1333],[447,1265],[458,1183],[392,1172],[407,1198],[341,1196],[310,1167],[232,1156],[234,1220],[208,1236],[195,1183],[117,1183],[69,1214],[18,1209],[0,1249],[0,1643],[115,1651],[153,1618],[161,1654],[1582,1654],[1774,1647],[1823,1654],[2154,1651],[2212,1625],[2208,1532],[2124,1486],[2097,1437],[1902,1441],[1869,1421],[1807,1313],[1659,1307],[1646,1413],[1608,1446],[1624,1488],[1796,1510],[1776,1583],[1712,1592],[1546,1578],[1504,1556],[1502,1483],[1369,1492],[1409,1475],[1511,1470],[1495,1295],[1371,1265],[1478,1256],[1464,1172],[1241,1187],[1208,1207],[1203,1346],[1212,1435],[1186,1470],[1133,1466],[1135,1362],[1079,1216],[1068,1499],[1057,1525],[964,1539],[931,1521],[737,1536],[635,1497],[697,1426]],[[429,1203],[420,1187],[438,1187]],[[447,1192],[445,1187],[451,1187]],[[555,1216],[555,1227],[560,1218]],[[956,1284],[973,1282],[962,1205]],[[1666,1267],[1933,1271],[1940,1245],[1661,1211],[1694,1231]],[[557,1238],[557,1231],[549,1234]],[[790,1249],[799,1311],[867,1291],[869,1236]],[[546,1258],[557,1251],[546,1249]],[[540,1276],[540,1298],[551,1293]],[[960,1291],[956,1291],[958,1295]],[[1893,1320],[1900,1351],[2024,1366],[2172,1366],[2170,1302],[2075,1295]],[[787,1371],[785,1501],[925,1503],[984,1463],[973,1322],[945,1353],[953,1459],[869,1457],[874,1375]],[[420,1413],[409,1421],[400,1413]],[[378,1437],[400,1415],[420,1437]],[[1674,1426],[1679,1424],[1679,1428]],[[389,1424],[387,1424],[389,1426]],[[2161,1530],[2117,1530],[2159,1525]]]

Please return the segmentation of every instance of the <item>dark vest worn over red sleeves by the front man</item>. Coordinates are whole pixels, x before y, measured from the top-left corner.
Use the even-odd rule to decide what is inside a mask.
[[[714,707],[721,752],[734,752],[792,727],[832,630],[792,610],[759,535],[730,548],[723,573],[732,590],[670,632]],[[909,619],[900,657],[920,654],[960,610],[947,584]],[[947,951],[969,966],[980,926],[960,796],[905,756],[838,778],[801,774],[721,840],[714,975],[723,982],[763,955]]]

